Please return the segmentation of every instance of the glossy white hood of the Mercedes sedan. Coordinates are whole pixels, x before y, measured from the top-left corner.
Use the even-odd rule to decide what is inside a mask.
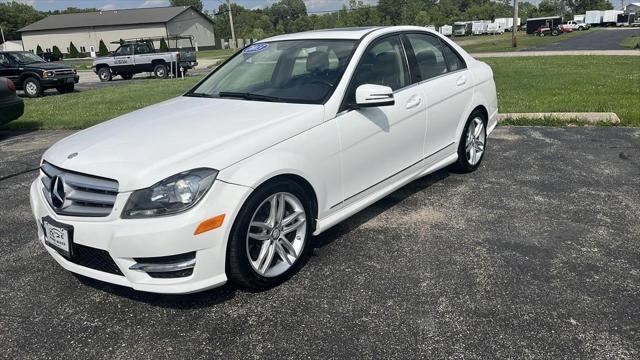
[[[115,179],[125,192],[185,170],[223,170],[316,126],[323,115],[322,105],[183,96],[71,135],[43,159]]]

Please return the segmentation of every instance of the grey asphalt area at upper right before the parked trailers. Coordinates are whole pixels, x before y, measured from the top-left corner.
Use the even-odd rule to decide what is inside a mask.
[[[522,51],[628,50],[620,45],[622,40],[631,36],[640,36],[640,28],[592,28],[587,31],[588,33],[585,35]]]

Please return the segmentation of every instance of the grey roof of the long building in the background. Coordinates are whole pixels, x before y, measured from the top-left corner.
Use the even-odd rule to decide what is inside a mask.
[[[182,14],[188,6],[107,10],[88,13],[51,15],[46,18],[27,25],[18,32],[71,29],[79,27],[94,26],[118,26],[118,25],[138,25],[166,23]],[[191,8],[192,10],[195,10]],[[199,14],[199,11],[195,10]]]

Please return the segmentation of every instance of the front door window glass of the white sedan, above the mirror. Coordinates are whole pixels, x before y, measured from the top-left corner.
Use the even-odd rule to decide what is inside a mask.
[[[398,36],[378,40],[367,49],[353,75],[349,100],[355,98],[356,88],[363,84],[384,85],[393,90],[409,84],[409,72]]]

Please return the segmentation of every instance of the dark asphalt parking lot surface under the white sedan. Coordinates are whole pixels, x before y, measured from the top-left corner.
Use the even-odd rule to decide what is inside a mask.
[[[70,132],[0,132],[7,358],[638,358],[640,130],[499,127],[473,174],[417,180],[315,239],[270,291],[76,278],[28,190]]]

